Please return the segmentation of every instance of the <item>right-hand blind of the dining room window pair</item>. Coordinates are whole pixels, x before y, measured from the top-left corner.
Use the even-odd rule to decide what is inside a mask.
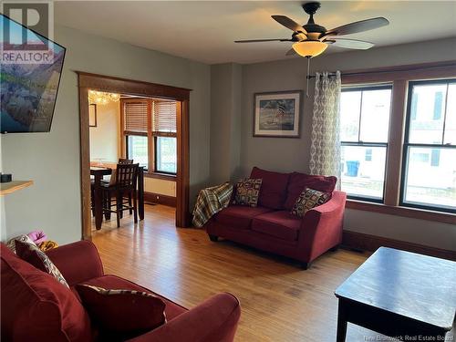
[[[161,137],[176,136],[176,101],[153,101],[152,134]]]

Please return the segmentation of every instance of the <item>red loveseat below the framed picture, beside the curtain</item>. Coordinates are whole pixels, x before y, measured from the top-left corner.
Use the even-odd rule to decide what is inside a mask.
[[[342,241],[342,221],[347,195],[334,191],[336,177],[306,173],[280,173],[254,167],[250,178],[263,179],[255,208],[230,205],[204,225],[212,241],[223,237],[298,260],[304,269]],[[306,188],[332,192],[331,199],[306,212],[303,218],[290,213]]]

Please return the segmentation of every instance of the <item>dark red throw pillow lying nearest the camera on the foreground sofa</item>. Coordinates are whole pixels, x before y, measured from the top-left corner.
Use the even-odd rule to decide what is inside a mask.
[[[90,320],[105,338],[128,339],[166,323],[166,305],[156,295],[83,284],[76,285],[76,290]]]

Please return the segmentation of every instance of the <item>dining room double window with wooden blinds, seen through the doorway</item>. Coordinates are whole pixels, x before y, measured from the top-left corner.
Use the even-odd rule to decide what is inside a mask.
[[[127,158],[150,172],[176,174],[176,101],[123,99],[121,106]]]

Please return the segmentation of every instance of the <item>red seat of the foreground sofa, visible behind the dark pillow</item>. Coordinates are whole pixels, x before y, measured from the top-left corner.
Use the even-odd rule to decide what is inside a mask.
[[[145,287],[132,283],[126,279],[120,278],[116,275],[103,275],[95,279],[90,279],[88,282],[84,282],[84,284],[94,285],[98,287],[110,288],[110,289],[122,289],[122,290],[135,290],[141,292],[147,292],[152,295],[157,295],[152,291],[148,290]],[[161,300],[165,303],[165,314],[168,321],[174,319],[175,317],[183,314],[187,311],[186,308],[177,305],[171,300],[162,297],[161,295],[157,295]],[[144,313],[138,313],[139,315],[143,315]]]

